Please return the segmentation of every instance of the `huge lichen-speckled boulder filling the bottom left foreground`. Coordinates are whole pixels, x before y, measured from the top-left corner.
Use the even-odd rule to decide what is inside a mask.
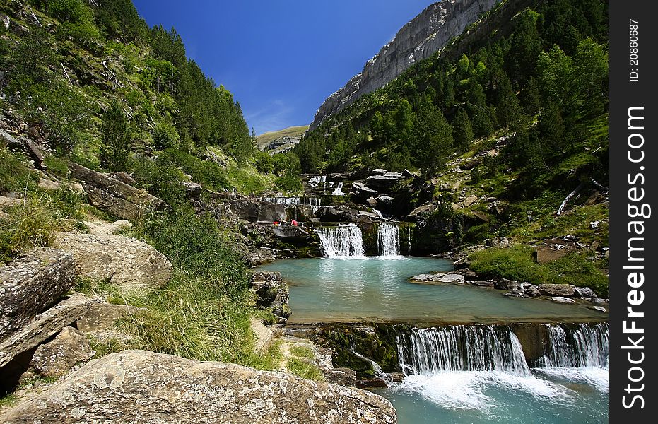
[[[386,399],[240,365],[124,351],[88,363],[3,423],[396,423]]]

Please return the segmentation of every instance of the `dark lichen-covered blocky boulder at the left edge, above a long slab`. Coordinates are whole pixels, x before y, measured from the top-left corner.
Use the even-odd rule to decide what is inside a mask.
[[[75,276],[71,253],[45,247],[0,266],[0,340],[57,302]]]

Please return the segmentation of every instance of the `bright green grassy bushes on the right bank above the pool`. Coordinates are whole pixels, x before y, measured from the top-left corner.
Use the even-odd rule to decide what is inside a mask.
[[[590,287],[607,297],[608,278],[583,254],[568,254],[548,264],[537,264],[534,249],[515,245],[509,249],[485,249],[471,254],[471,269],[486,278],[508,278],[533,284],[572,284]]]

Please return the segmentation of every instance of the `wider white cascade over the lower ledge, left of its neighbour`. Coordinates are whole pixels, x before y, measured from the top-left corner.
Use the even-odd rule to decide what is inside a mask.
[[[488,370],[530,375],[521,343],[507,326],[412,329],[398,336],[397,343],[405,375]]]

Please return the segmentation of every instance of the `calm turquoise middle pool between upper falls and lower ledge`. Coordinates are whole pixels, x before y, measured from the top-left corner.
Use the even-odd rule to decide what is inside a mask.
[[[420,273],[450,271],[445,259],[288,259],[259,267],[290,285],[290,324],[308,322],[495,323],[606,320],[585,305],[506,298],[471,285],[409,282]]]

